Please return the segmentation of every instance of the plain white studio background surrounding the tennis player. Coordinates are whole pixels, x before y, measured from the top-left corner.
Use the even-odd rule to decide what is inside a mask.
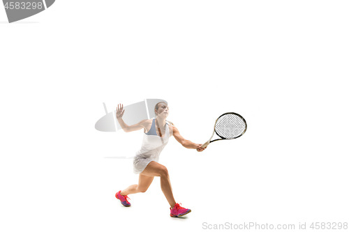
[[[348,222],[348,1],[56,1],[0,8],[1,231],[202,231],[202,223]],[[243,137],[202,153],[172,138],[138,183],[142,132],[98,132],[117,103],[168,101],[196,143],[235,111]]]

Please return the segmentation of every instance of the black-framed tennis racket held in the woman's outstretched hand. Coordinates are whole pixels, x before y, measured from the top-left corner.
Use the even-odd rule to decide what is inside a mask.
[[[202,148],[206,148],[211,142],[223,140],[223,139],[237,139],[246,132],[247,123],[246,120],[239,114],[236,113],[225,113],[217,118],[216,123],[214,123],[214,132],[221,139],[214,139],[214,132],[211,138],[202,144]]]

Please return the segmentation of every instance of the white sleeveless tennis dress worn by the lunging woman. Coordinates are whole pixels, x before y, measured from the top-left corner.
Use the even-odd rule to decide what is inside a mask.
[[[149,162],[158,162],[161,151],[168,144],[170,139],[170,130],[168,123],[165,125],[165,136],[159,137],[155,131],[155,118],[151,124],[151,129],[147,134],[143,134],[142,147],[135,153],[133,158],[133,173],[139,174],[147,167]]]

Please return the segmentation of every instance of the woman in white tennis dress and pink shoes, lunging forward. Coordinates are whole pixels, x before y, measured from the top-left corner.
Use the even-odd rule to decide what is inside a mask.
[[[125,132],[132,132],[135,130],[144,130],[144,137],[142,148],[136,153],[133,159],[133,172],[140,174],[138,185],[131,185],[125,190],[120,190],[115,194],[117,199],[121,201],[123,206],[131,206],[128,202],[128,194],[135,194],[138,192],[146,192],[154,176],[160,176],[161,190],[165,194],[168,203],[170,203],[170,216],[181,217],[191,212],[190,209],[183,208],[179,203],[174,201],[172,194],[172,187],[170,177],[168,176],[168,169],[158,163],[158,157],[161,150],[168,144],[168,139],[171,135],[184,146],[185,148],[197,149],[198,151],[205,150],[202,144],[194,144],[193,142],[184,139],[179,134],[179,131],[174,127],[173,123],[166,121],[168,117],[169,108],[165,102],[158,102],[155,106],[156,118],[145,119],[135,125],[126,125],[122,120],[124,115],[124,106],[117,107],[117,121]]]

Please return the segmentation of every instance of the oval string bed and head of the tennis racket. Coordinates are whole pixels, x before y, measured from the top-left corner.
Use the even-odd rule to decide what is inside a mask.
[[[216,122],[216,134],[225,139],[234,139],[246,130],[246,123],[235,114],[225,114]]]

